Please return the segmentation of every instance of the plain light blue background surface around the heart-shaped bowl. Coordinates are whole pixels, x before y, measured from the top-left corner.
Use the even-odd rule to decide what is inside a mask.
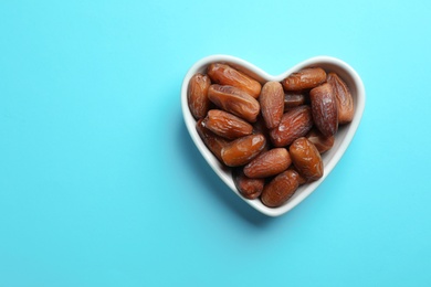
[[[0,286],[431,286],[430,1],[0,3]],[[349,63],[367,106],[292,212],[236,198],[186,130],[210,54]]]

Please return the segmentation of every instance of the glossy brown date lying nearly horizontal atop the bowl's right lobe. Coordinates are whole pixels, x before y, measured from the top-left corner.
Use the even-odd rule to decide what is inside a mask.
[[[291,74],[282,81],[285,91],[313,88],[326,81],[326,72],[322,67],[306,67]]]

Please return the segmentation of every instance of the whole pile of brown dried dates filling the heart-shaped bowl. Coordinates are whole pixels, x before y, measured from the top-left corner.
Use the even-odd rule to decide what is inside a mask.
[[[260,198],[269,208],[323,177],[320,155],[333,147],[338,125],[354,117],[349,88],[322,67],[262,85],[228,64],[212,63],[206,74],[191,77],[187,98],[199,136],[232,168],[240,194]]]

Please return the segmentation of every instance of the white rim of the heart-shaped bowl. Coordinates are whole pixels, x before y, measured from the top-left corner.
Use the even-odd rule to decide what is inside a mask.
[[[324,176],[314,182],[307,183],[307,187],[298,194],[295,200],[287,201],[287,203],[278,206],[278,208],[267,208],[263,205],[259,199],[257,200],[248,200],[243,198],[236,190],[233,180],[230,176],[227,174],[225,168],[217,160],[217,158],[211,153],[211,151],[208,150],[208,148],[204,146],[203,141],[200,139],[197,130],[196,130],[196,119],[192,117],[188,103],[187,103],[187,89],[188,89],[188,83],[192,75],[198,73],[199,71],[202,71],[206,66],[208,66],[210,63],[213,62],[225,62],[231,63],[238,66],[241,66],[245,68],[248,72],[254,73],[255,75],[264,78],[265,81],[276,81],[281,82],[283,78],[287,77],[287,75],[309,66],[317,66],[317,65],[330,65],[336,66],[339,70],[343,70],[345,73],[347,73],[355,85],[356,89],[356,102],[355,102],[355,116],[354,119],[347,128],[347,132],[344,137],[344,140],[341,141],[340,146],[338,147],[338,150],[335,151],[334,156],[328,160],[328,163],[325,164],[325,172]],[[350,89],[354,89],[349,87]],[[207,163],[211,167],[211,169],[218,174],[218,177],[235,193],[238,196],[240,196],[243,201],[245,201],[249,205],[257,210],[259,212],[269,215],[269,216],[280,216],[282,214],[285,214],[286,212],[291,211],[293,208],[298,205],[301,202],[303,202],[308,195],[311,195],[317,187],[326,179],[326,177],[333,171],[335,166],[338,163],[338,161],[341,159],[343,155],[346,152],[348,146],[350,145],[356,130],[359,127],[360,120],[362,118],[364,109],[366,104],[366,94],[365,94],[365,87],[364,83],[358,75],[358,73],[346,62],[327,55],[319,55],[314,56],[311,59],[307,59],[305,61],[302,61],[297,63],[296,65],[293,65],[292,67],[287,68],[285,72],[278,74],[278,75],[270,75],[262,68],[251,64],[250,62],[232,56],[232,55],[224,55],[224,54],[216,54],[216,55],[209,55],[206,57],[202,57],[201,60],[197,61],[186,73],[182,85],[181,85],[181,109],[182,109],[182,117],[186,124],[186,127],[189,131],[189,135],[195,142],[196,147],[202,155],[202,157],[206,159]],[[257,202],[259,201],[259,202]]]

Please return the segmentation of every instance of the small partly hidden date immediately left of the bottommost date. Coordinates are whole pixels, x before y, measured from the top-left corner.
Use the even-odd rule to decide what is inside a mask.
[[[265,185],[264,179],[248,178],[242,168],[234,168],[232,170],[233,182],[240,194],[249,200],[254,200],[262,194]]]

